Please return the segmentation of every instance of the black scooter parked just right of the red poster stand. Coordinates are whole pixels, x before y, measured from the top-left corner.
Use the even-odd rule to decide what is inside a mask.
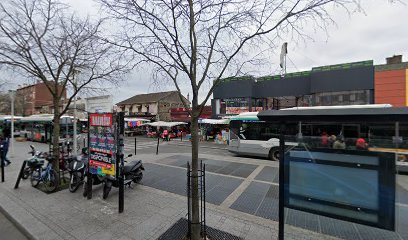
[[[128,155],[131,157],[132,154]],[[125,161],[127,162],[127,161]],[[131,161],[130,163],[126,164],[123,167],[124,172],[124,184],[125,186],[131,187],[132,182],[139,183],[143,178],[143,171],[144,167],[141,160]],[[113,187],[119,187],[119,181],[117,179],[113,179],[111,177],[106,177],[104,180],[104,187],[103,187],[103,199],[106,199],[109,195],[110,190]]]

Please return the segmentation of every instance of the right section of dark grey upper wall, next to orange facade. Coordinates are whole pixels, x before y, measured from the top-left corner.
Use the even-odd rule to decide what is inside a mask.
[[[311,93],[374,89],[374,67],[341,69],[311,74]]]

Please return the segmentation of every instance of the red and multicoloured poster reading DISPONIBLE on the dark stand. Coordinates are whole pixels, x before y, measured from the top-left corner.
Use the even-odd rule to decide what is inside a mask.
[[[89,171],[100,176],[116,174],[116,140],[112,113],[89,115]]]

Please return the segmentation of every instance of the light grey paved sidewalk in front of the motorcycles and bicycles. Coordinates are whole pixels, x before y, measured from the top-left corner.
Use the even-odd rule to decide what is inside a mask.
[[[45,194],[22,180],[14,184],[22,161],[28,156],[29,142],[16,143],[12,165],[6,168],[6,182],[0,183],[0,210],[13,219],[30,239],[157,239],[187,214],[186,198],[143,185],[125,189],[125,211],[118,213],[118,190],[113,188],[102,200],[100,186],[94,186],[93,199],[63,190]],[[38,150],[46,145],[35,144]],[[144,162],[155,162],[166,154],[138,155]],[[232,209],[207,204],[207,225],[243,239],[277,239],[278,223]],[[286,228],[286,239],[335,239],[327,235]],[[2,238],[3,239],[3,238]]]

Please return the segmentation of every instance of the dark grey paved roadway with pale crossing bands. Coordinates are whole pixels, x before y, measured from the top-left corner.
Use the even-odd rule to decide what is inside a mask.
[[[221,158],[221,157],[219,157]],[[143,184],[167,192],[186,195],[186,154],[163,157],[146,163]],[[206,200],[261,218],[278,221],[279,173],[277,163],[263,159],[222,157],[205,154],[200,160],[206,164]],[[408,176],[398,175],[396,194],[396,232],[336,220],[293,209],[285,209],[285,223],[318,233],[344,239],[408,239],[408,186],[402,181]],[[225,204],[230,201],[231,204]]]

